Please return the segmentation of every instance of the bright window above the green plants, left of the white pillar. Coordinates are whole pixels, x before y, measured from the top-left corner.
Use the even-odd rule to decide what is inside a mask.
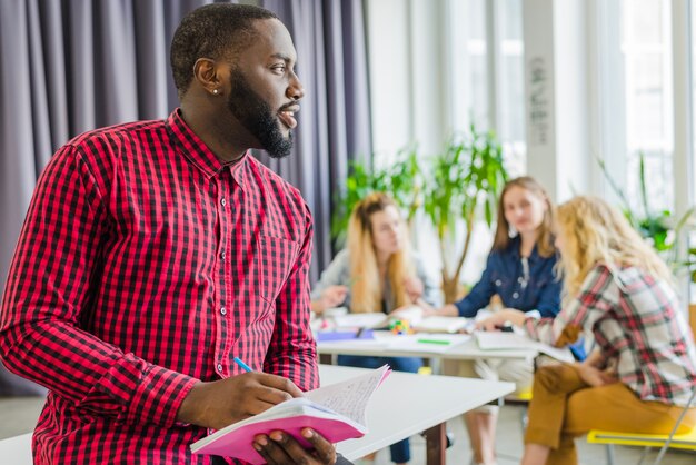
[[[521,1],[449,1],[454,128],[495,130],[511,176],[526,172]]]

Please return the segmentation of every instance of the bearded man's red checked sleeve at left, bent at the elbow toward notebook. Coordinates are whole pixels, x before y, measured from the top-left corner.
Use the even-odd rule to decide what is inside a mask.
[[[102,240],[113,226],[106,207],[109,179],[96,176],[86,161],[100,144],[108,142],[64,146],[38,181],[6,287],[0,357],[9,370],[78,409],[122,423],[171,426],[197,379],[78,327],[90,319],[86,313],[95,305]]]

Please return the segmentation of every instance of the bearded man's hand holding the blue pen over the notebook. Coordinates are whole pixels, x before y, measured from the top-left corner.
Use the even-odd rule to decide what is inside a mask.
[[[211,383],[198,383],[186,396],[177,419],[220,429],[288,400],[302,392],[289,379],[250,372]]]

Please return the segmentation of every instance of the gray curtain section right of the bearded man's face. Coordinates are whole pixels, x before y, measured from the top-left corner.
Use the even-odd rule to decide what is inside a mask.
[[[362,0],[261,0],[288,27],[306,96],[296,152],[259,158],[300,188],[315,215],[312,283],[330,263],[332,201],[348,160],[371,154]]]

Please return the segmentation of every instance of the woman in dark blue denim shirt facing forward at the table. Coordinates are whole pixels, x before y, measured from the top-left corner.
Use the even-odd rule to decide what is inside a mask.
[[[497,295],[505,308],[554,317],[560,307],[561,284],[554,275],[557,251],[551,236],[551,205],[544,188],[528,176],[508,181],[498,202],[498,226],[481,279],[464,299],[435,314],[475,317]],[[444,366],[450,375],[514,382],[518,392],[530,388],[533,368],[531,362],[501,359]],[[496,421],[494,406],[465,415],[477,464],[495,464]]]

